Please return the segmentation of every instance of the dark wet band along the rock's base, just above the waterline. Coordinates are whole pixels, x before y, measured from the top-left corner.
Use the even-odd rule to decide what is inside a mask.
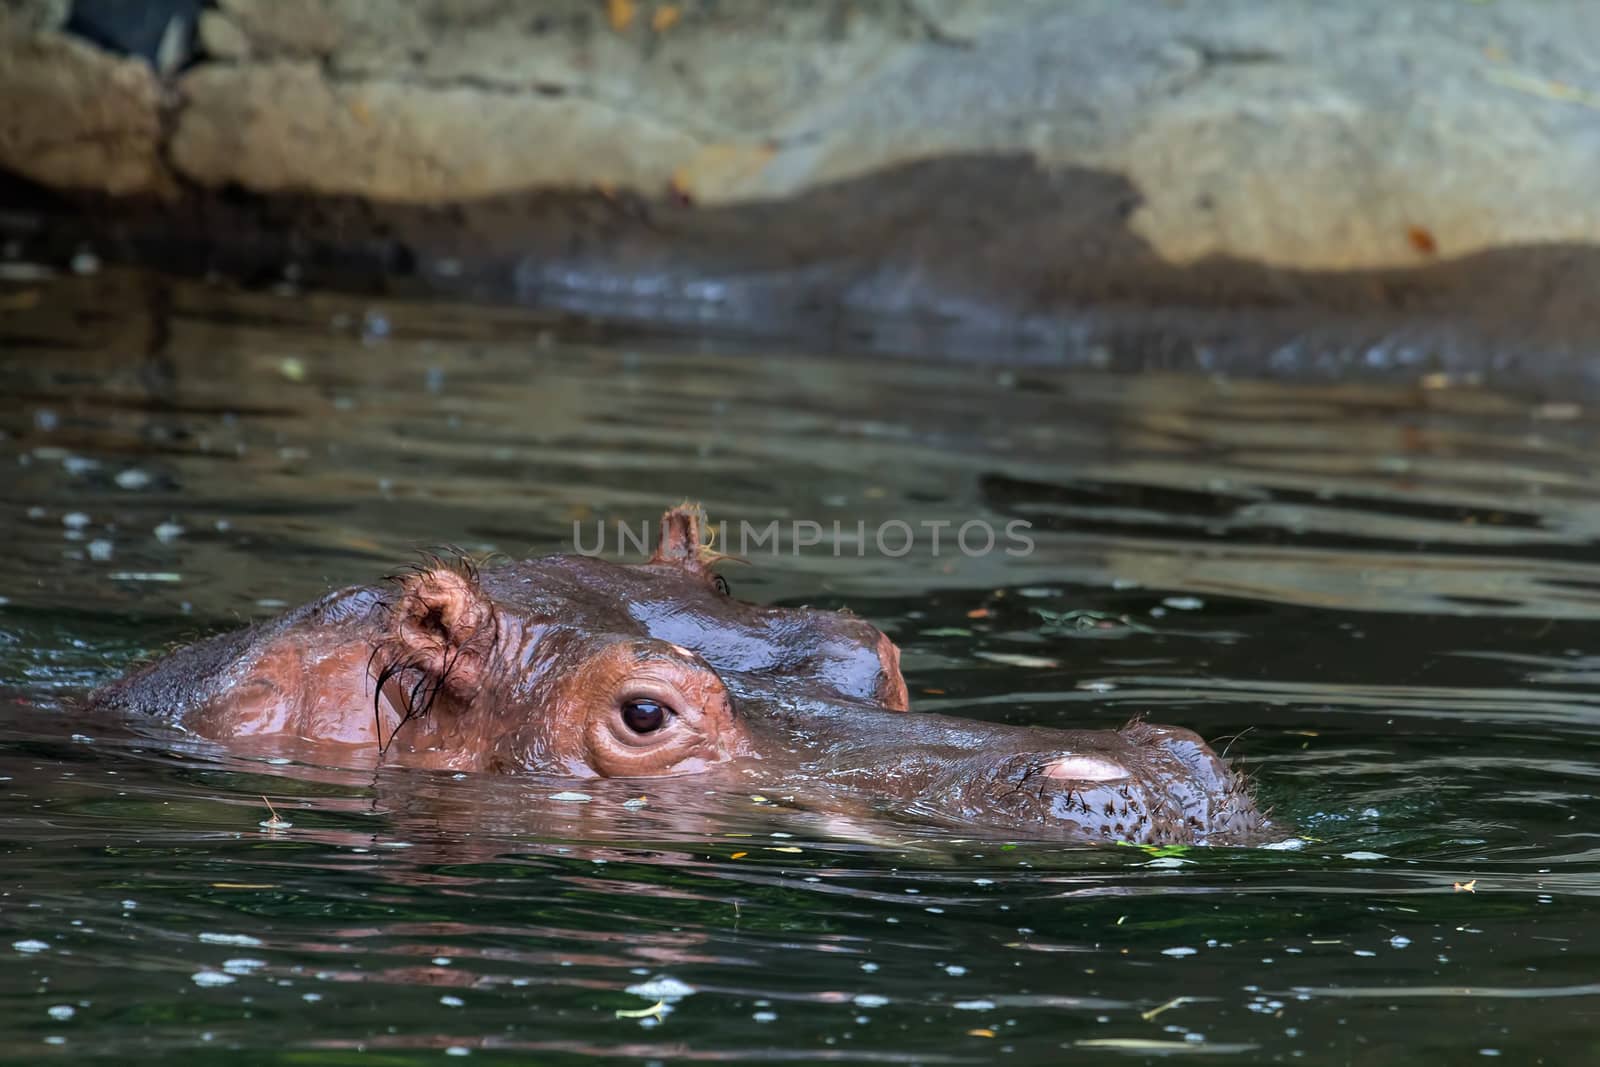
[[[24,254],[243,282],[512,302],[656,330],[965,360],[1275,373],[1600,378],[1600,250],[1501,248],[1416,269],[1173,264],[1125,178],[1026,157],[894,166],[701,208],[600,192],[450,205],[192,192],[66,200],[13,182]]]

